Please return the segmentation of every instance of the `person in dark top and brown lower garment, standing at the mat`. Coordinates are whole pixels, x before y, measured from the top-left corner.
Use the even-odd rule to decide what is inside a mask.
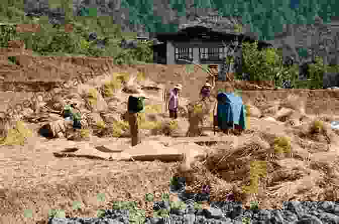
[[[128,116],[129,124],[132,136],[132,146],[135,146],[141,142],[139,125],[140,125],[140,113],[145,111],[145,97],[144,94],[134,94],[128,98]]]

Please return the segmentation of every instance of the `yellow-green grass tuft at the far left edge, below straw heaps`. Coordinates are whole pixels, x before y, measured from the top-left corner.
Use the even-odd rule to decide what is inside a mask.
[[[33,135],[23,121],[15,122],[14,126],[9,126],[7,135],[0,139],[1,144],[5,145],[24,145],[25,141]]]

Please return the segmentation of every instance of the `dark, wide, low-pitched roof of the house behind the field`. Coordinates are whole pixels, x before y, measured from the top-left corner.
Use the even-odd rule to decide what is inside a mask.
[[[197,26],[192,26],[192,27],[187,27],[185,29],[181,29],[178,32],[174,33],[156,33],[155,37],[157,40],[161,42],[165,41],[189,41],[195,38],[198,39],[203,39],[203,40],[220,40],[220,39],[230,39],[234,40],[239,36],[241,39],[244,38],[245,41],[255,41],[257,40],[253,36],[245,35],[245,34],[239,34],[236,32],[233,32],[231,30],[218,30],[218,29],[213,29],[201,25]],[[258,41],[259,45],[262,46],[271,46],[270,43],[265,42],[265,41]]]

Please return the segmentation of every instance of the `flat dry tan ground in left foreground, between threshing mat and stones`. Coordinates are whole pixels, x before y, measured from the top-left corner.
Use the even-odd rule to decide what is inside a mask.
[[[35,213],[27,223],[46,220],[49,209],[95,216],[99,206],[109,206],[114,200],[134,200],[145,207],[146,192],[158,199],[168,193],[175,163],[55,158],[53,145],[61,142],[40,138],[25,146],[0,147],[0,223],[24,223],[25,209]],[[103,204],[95,199],[98,193],[105,194]],[[83,203],[80,213],[72,211],[75,200]]]

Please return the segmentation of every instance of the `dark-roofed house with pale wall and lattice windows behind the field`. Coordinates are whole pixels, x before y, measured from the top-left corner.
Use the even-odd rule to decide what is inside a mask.
[[[237,37],[250,42],[256,40],[254,37],[230,30],[220,31],[200,25],[187,27],[176,33],[157,33],[155,38],[161,43],[153,46],[154,63],[188,64],[190,62],[187,61],[194,61],[198,64],[217,64],[219,77],[222,79],[226,46]],[[259,48],[272,46],[263,41],[258,41],[258,45]],[[232,56],[235,59],[235,67],[231,68],[230,72],[241,72],[241,48]]]

